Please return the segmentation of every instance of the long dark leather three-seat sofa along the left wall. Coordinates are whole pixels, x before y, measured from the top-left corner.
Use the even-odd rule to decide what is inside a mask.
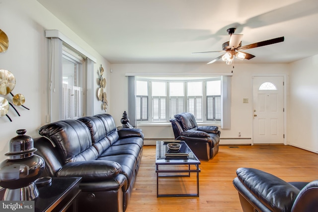
[[[139,129],[117,131],[109,114],[63,120],[39,129],[36,154],[45,160],[43,176],[82,177],[80,212],[124,212],[143,153]]]

